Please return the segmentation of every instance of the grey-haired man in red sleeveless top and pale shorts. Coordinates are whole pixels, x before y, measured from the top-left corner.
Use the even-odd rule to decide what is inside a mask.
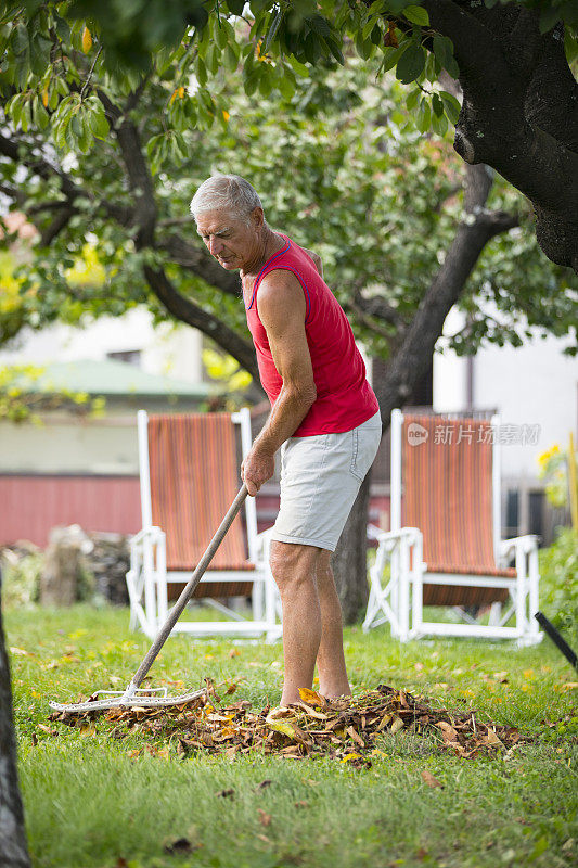
[[[243,461],[255,496],[281,447],[281,508],[271,570],[283,607],[285,678],[281,704],[311,688],[349,695],[335,550],[382,433],[377,400],[351,327],[323,281],[319,256],[273,232],[259,196],[236,175],[196,191],[198,234],[222,268],[240,269],[247,322],[271,413]]]

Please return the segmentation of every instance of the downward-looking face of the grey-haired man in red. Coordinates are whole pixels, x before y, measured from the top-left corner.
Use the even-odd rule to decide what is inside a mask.
[[[246,220],[221,208],[206,210],[196,220],[196,231],[208,252],[228,271],[246,269],[258,258],[261,226],[260,208],[255,208]]]

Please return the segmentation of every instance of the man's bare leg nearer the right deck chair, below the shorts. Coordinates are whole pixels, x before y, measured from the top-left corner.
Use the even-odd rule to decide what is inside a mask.
[[[351,688],[347,679],[343,651],[343,617],[333,570],[331,551],[321,550],[317,560],[317,592],[321,607],[321,642],[317,654],[319,692],[322,697],[348,697]]]

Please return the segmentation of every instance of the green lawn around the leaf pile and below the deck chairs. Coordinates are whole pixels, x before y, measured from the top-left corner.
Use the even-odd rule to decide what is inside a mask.
[[[149,642],[128,613],[76,607],[8,611],[21,783],[34,865],[70,868],[389,868],[389,866],[573,866],[578,854],[577,680],[548,640],[534,649],[463,640],[393,641],[386,629],[346,630],[354,689],[389,684],[449,707],[475,707],[536,737],[508,758],[462,760],[432,740],[398,733],[370,769],[330,760],[259,753],[177,756],[131,752],[142,740],[59,724],[48,700],[119,689]],[[25,651],[26,654],[23,654]],[[236,653],[239,652],[239,653]],[[508,673],[501,684],[494,673]],[[235,699],[278,703],[280,643],[169,640],[154,684],[180,691],[239,684]],[[574,719],[549,727],[566,715]],[[166,745],[164,745],[166,748]],[[429,770],[444,783],[431,789]],[[259,788],[264,780],[271,784]],[[232,797],[222,790],[234,789]],[[305,804],[301,804],[305,803]],[[262,813],[259,813],[262,812]],[[268,818],[270,817],[270,821]],[[265,824],[264,821],[265,820]],[[169,855],[187,838],[194,847]],[[125,861],[123,861],[125,860]]]

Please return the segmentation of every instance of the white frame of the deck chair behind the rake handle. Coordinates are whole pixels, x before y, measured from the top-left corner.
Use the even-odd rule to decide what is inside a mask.
[[[240,425],[243,457],[251,449],[251,414],[247,407],[231,414],[233,423]],[[130,540],[130,570],[127,573],[127,588],[130,600],[130,627],[140,626],[143,633],[153,638],[166,621],[169,612],[168,583],[187,583],[191,572],[167,571],[166,536],[160,527],[153,525],[151,502],[151,475],[149,463],[149,416],[145,410],[138,412],[139,470],[141,486],[142,531]],[[252,582],[252,616],[245,617],[230,605],[209,597],[198,598],[198,602],[211,605],[227,615],[229,621],[178,621],[172,633],[187,633],[190,636],[241,636],[246,638],[265,636],[274,641],[281,636],[281,624],[277,620],[280,611],[279,591],[269,566],[269,531],[257,533],[257,510],[254,497],[244,503],[247,529],[249,561],[254,570],[208,570],[203,582]],[[207,539],[207,545],[210,540]]]

